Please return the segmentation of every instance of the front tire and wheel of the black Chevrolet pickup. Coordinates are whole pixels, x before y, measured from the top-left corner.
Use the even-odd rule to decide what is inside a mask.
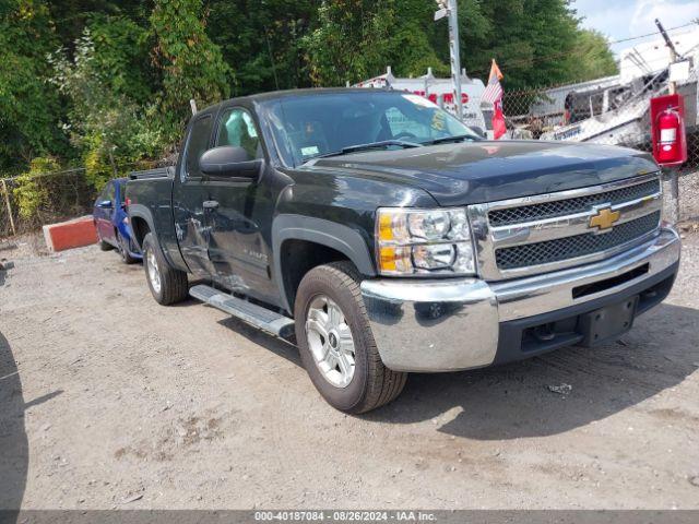
[[[350,414],[369,412],[393,401],[407,379],[407,373],[392,371],[381,361],[362,298],[360,282],[360,275],[350,262],[320,265],[304,276],[294,303],[296,340],[310,380],[331,406]],[[342,313],[342,321],[333,323],[335,307]],[[320,324],[322,329],[318,331]],[[352,373],[343,372],[348,368],[346,357],[343,367],[343,357],[336,356],[347,355],[342,350],[350,344],[347,327],[354,349]],[[327,337],[320,334],[323,330]],[[330,348],[334,348],[334,356]],[[319,359],[319,354],[331,359]],[[333,368],[335,361],[337,366]],[[352,377],[347,381],[348,374]]]

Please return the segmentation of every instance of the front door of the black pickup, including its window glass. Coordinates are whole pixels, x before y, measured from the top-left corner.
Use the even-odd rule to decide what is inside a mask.
[[[242,147],[249,159],[264,158],[254,120],[241,107],[221,111],[214,144]],[[271,223],[274,209],[270,180],[264,176],[245,181],[208,177],[204,186],[211,206],[206,214],[211,226],[209,260],[215,279],[232,290],[273,301],[276,289],[271,282],[271,255],[261,229]]]

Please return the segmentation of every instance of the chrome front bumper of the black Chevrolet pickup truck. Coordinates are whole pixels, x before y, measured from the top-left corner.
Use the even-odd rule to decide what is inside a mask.
[[[488,283],[367,279],[362,283],[383,364],[395,371],[455,371],[577,344],[579,315],[639,296],[637,314],[662,301],[679,265],[673,229],[614,258]],[[546,327],[546,337],[532,336]]]

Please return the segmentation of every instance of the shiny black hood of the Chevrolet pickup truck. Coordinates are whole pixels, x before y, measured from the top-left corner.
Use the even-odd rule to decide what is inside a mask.
[[[312,170],[417,186],[440,205],[529,196],[656,171],[648,153],[599,144],[478,141],[319,158]]]

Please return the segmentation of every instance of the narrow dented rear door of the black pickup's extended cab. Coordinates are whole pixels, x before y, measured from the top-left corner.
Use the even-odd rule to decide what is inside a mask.
[[[210,226],[206,223],[204,207],[206,189],[203,187],[203,176],[199,169],[199,157],[211,143],[213,120],[211,114],[202,114],[190,123],[173,186],[175,233],[182,258],[190,271],[198,276],[209,276],[213,273],[208,253]]]

